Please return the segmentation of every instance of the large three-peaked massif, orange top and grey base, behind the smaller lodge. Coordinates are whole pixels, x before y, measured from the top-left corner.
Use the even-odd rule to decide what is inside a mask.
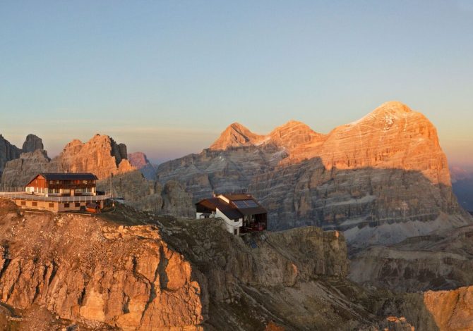
[[[345,231],[356,246],[471,221],[452,193],[435,127],[397,101],[328,135],[296,121],[268,135],[234,123],[210,149],[160,165],[157,179],[178,180],[194,201],[250,192],[273,230],[319,225]]]

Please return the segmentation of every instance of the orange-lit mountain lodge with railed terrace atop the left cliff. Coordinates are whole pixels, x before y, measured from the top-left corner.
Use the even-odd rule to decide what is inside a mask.
[[[109,195],[97,195],[97,177],[92,173],[40,173],[24,192],[1,194],[17,206],[47,211],[100,212]]]

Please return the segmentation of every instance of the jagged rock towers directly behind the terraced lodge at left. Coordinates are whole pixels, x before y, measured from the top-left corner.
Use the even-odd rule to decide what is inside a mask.
[[[27,149],[31,149],[32,145],[42,146],[34,137],[30,137],[28,144],[25,144]],[[20,154],[16,160],[6,163],[1,185],[23,187],[28,180],[41,172],[94,173],[102,180],[111,174],[118,175],[136,170],[126,157],[126,146],[116,144],[107,135],[95,135],[86,143],[75,139],[52,160],[42,149]]]

